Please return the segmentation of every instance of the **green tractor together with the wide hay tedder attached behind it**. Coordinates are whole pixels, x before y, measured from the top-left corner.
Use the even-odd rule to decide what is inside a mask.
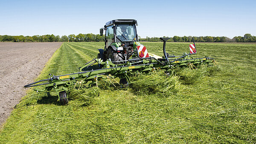
[[[97,58],[87,62],[76,73],[58,76],[49,74],[48,79],[36,81],[24,87],[46,85],[43,88],[34,88],[34,90],[49,92],[54,89],[58,93],[60,102],[67,104],[69,90],[79,89],[84,84],[90,87],[103,83],[104,86],[104,80],[108,79],[111,82],[119,78],[119,83],[117,81],[116,83],[125,87],[128,86],[129,76],[132,75],[160,70],[169,75],[173,69],[179,67],[196,69],[201,65],[215,63],[215,60],[209,57],[192,58],[192,55],[196,54],[195,42],[189,45],[188,54],[169,55],[166,53],[166,41],[169,38],[166,37],[160,38],[163,41],[163,57],[150,54],[145,46],[138,42],[136,26],[136,20],[109,21],[104,28],[100,29],[101,35],[105,30],[105,48],[99,49]]]

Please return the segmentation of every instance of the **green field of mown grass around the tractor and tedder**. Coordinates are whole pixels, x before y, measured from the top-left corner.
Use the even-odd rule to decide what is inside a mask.
[[[188,53],[189,44],[167,43],[166,51]],[[143,45],[163,55],[163,43]],[[54,92],[29,90],[0,131],[0,143],[256,143],[256,44],[196,46],[198,58],[218,65],[175,70],[169,78],[140,75],[126,89],[73,90],[64,106]],[[103,47],[63,43],[37,80],[76,72]]]

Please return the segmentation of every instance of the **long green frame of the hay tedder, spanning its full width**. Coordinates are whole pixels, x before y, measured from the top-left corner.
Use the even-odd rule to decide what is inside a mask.
[[[183,58],[183,57],[182,57]],[[32,86],[40,86],[40,85],[45,85],[47,86],[43,89],[34,89],[36,91],[44,91],[44,90],[51,90],[52,88],[54,89],[60,89],[60,87],[68,87],[71,85],[70,81],[72,80],[77,80],[77,79],[83,79],[84,82],[88,81],[95,81],[95,78],[102,78],[102,75],[115,75],[116,77],[122,77],[123,75],[127,75],[129,72],[133,71],[140,71],[140,72],[148,72],[151,71],[153,68],[160,68],[160,69],[172,69],[177,66],[187,66],[188,63],[194,63],[195,65],[199,65],[202,63],[210,63],[214,60],[213,58],[193,58],[193,59],[181,59],[178,58],[176,60],[170,61],[170,65],[162,65],[156,60],[142,60],[140,64],[137,65],[131,65],[129,64],[119,64],[116,65],[115,63],[112,63],[110,60],[107,60],[103,62],[103,60],[96,59],[94,58],[93,60],[89,61],[88,63],[85,64],[85,66],[79,68],[79,72],[72,73],[72,74],[67,74],[67,75],[52,75],[49,74],[48,79],[36,81],[32,84],[28,84],[24,87],[32,87]],[[90,69],[87,71],[82,71],[84,68],[90,68],[91,65],[94,63],[98,62],[98,64],[102,64],[103,68],[102,69]],[[44,84],[38,84],[43,81],[49,81],[48,83]]]

